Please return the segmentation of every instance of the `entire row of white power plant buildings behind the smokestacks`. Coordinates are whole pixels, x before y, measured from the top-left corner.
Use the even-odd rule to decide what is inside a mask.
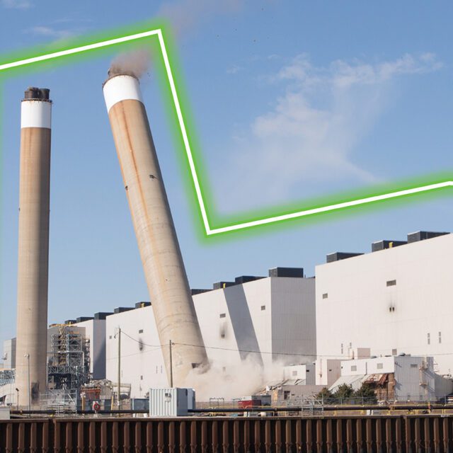
[[[316,279],[304,277],[302,268],[275,268],[268,277],[243,275],[192,289],[214,376],[229,382],[253,364],[262,378],[257,390],[275,401],[364,382],[381,399],[434,401],[449,394],[452,248],[451,234],[420,231],[408,241],[373,243],[371,253],[332,253],[316,267]],[[123,397],[131,398],[169,385],[163,352],[170,344],[161,345],[151,302],[64,325],[85,341],[89,363],[82,380],[110,382],[113,399],[118,381]],[[48,333],[50,352],[55,328]],[[9,401],[15,398],[8,371],[14,348],[14,340],[5,343],[1,372]]]

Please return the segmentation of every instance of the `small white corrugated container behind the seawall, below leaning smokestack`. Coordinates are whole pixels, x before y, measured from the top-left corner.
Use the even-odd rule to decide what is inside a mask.
[[[188,415],[189,409],[195,408],[195,390],[149,389],[150,417],[180,417]]]

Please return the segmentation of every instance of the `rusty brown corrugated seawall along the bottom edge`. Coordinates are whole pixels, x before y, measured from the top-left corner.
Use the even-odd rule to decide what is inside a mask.
[[[452,439],[440,415],[0,421],[5,453],[447,453]]]

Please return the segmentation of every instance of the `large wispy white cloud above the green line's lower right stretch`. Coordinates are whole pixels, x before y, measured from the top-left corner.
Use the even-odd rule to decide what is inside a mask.
[[[217,175],[223,180],[219,205],[229,210],[237,209],[237,200],[281,202],[310,184],[379,182],[356,163],[357,145],[382,114],[397,77],[440,67],[432,54],[375,64],[338,60],[328,67],[297,55],[267,79],[284,84],[282,95],[235,139],[231,161]]]

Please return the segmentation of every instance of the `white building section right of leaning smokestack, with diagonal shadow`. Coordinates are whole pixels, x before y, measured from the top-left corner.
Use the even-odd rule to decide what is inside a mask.
[[[265,367],[314,360],[315,282],[298,271],[270,269],[269,277],[238,277],[234,284],[220,282],[224,287],[194,295],[212,364],[228,372],[229,365],[246,359]]]

